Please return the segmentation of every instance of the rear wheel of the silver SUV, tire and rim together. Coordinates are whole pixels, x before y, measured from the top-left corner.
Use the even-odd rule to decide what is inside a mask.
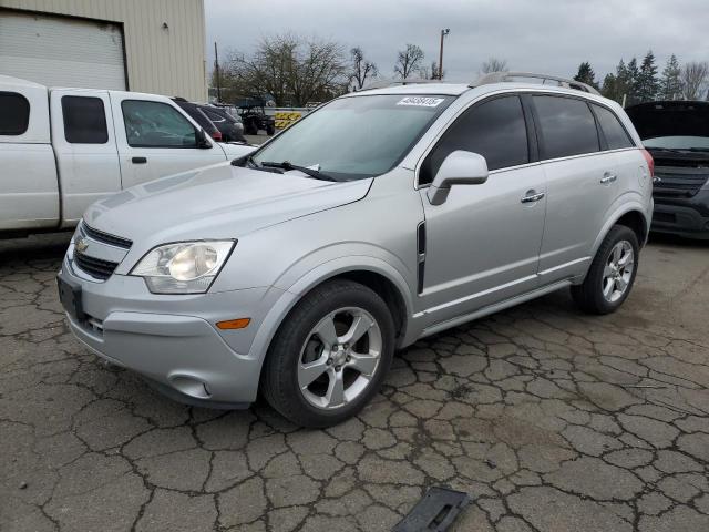
[[[586,279],[572,286],[574,301],[589,314],[610,314],[626,300],[638,268],[638,238],[625,225],[614,226],[604,238]]]

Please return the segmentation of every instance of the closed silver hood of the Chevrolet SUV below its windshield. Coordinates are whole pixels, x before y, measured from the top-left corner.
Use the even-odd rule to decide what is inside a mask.
[[[143,245],[237,238],[361,200],[371,181],[332,183],[220,163],[126,188],[94,203],[84,221]]]

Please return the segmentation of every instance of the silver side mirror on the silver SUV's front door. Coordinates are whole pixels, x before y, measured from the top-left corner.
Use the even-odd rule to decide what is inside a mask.
[[[445,203],[453,185],[482,185],[487,181],[487,161],[473,152],[456,150],[443,160],[427,195],[431,205]]]

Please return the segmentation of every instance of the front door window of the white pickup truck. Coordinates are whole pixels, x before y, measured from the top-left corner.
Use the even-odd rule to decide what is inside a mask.
[[[197,147],[195,127],[172,105],[124,100],[123,121],[133,147]]]

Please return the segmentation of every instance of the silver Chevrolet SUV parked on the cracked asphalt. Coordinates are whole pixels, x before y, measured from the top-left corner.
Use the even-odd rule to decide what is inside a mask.
[[[633,124],[593,91],[490,81],[347,94],[94,204],[58,276],[71,330],[178,400],[260,391],[325,427],[419,338],[566,287],[616,310],[653,211]]]

